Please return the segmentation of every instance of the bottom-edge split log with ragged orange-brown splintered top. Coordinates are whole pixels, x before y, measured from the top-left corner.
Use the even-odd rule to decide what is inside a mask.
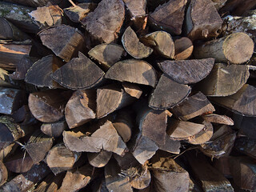
[[[156,192],[183,192],[189,190],[189,173],[172,158],[153,159],[153,182]]]

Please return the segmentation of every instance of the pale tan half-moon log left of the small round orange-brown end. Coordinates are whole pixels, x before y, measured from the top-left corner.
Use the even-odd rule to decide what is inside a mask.
[[[165,31],[154,31],[151,34],[146,34],[143,40],[149,43],[162,57],[174,58],[174,41],[170,34]]]

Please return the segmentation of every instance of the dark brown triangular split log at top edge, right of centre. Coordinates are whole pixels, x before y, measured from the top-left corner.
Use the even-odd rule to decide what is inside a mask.
[[[151,26],[165,30],[170,34],[182,34],[186,2],[186,0],[171,0],[162,6],[158,6],[149,16]]]

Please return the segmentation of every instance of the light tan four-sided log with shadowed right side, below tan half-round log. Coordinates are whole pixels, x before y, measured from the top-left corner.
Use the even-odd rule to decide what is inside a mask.
[[[134,100],[134,97],[116,85],[103,86],[97,90],[97,118],[103,118],[115,110],[128,106]]]

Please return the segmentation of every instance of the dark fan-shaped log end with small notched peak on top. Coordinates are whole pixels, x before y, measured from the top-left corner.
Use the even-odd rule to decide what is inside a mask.
[[[52,74],[54,81],[71,89],[90,89],[102,81],[104,72],[81,52],[78,58],[72,58],[70,62],[56,70]]]

